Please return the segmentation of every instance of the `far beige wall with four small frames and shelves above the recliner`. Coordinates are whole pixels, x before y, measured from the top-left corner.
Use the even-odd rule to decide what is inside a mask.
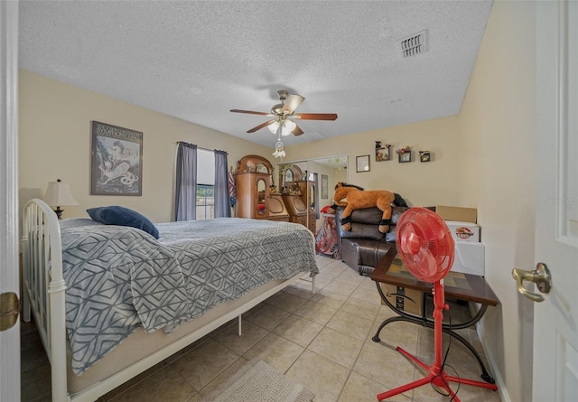
[[[335,122],[339,124],[339,119]],[[331,129],[328,128],[328,129]],[[376,162],[375,142],[392,146],[392,160]],[[409,145],[412,162],[399,164],[397,148]],[[432,152],[432,162],[420,163],[418,151]],[[287,161],[348,154],[348,181],[368,190],[401,194],[413,206],[457,205],[458,117],[443,117],[308,143],[285,146]],[[356,172],[356,156],[369,155],[369,172]],[[331,198],[331,194],[330,194]],[[464,205],[464,206],[475,206]]]

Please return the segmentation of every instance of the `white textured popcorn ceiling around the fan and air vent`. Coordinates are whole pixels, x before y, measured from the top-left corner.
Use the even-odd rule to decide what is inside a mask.
[[[276,91],[305,100],[285,145],[459,113],[490,0],[21,1],[20,67],[275,145]],[[426,31],[428,51],[400,40]]]

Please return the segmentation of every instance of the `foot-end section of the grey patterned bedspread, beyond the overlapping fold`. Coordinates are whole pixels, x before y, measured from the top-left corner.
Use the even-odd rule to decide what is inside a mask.
[[[302,225],[219,218],[158,225],[179,260],[194,315],[233,300],[272,279],[318,272],[314,239]]]

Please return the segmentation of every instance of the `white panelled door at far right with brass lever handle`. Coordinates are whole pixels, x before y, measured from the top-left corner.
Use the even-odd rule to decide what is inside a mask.
[[[534,402],[578,400],[578,2],[536,2]],[[528,267],[527,269],[533,269]],[[529,288],[529,286],[527,286]]]

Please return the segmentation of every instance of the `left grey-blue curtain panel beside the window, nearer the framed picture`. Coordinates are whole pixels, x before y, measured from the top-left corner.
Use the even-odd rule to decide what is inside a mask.
[[[177,146],[175,220],[196,220],[197,145],[179,142]]]

